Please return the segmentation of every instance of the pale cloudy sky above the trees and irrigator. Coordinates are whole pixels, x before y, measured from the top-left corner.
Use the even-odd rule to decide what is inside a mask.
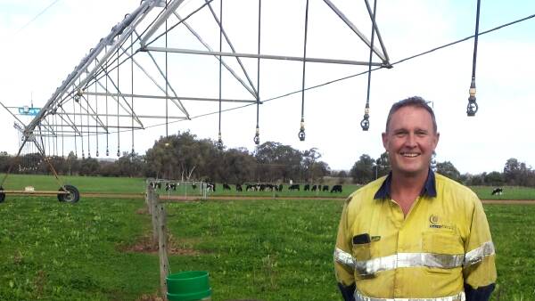
[[[185,7],[193,2],[185,1]],[[255,10],[258,8],[253,3],[224,2],[227,13],[224,26],[239,53],[256,53]],[[369,37],[371,24],[363,4],[344,0],[333,3]],[[473,35],[475,3],[379,1],[376,21],[391,62]],[[13,107],[29,105],[32,100],[36,107],[45,104],[88,50],[138,5],[138,0],[0,0],[0,102]],[[301,56],[304,1],[271,0],[262,5],[262,52]],[[218,7],[218,1],[214,7]],[[480,31],[534,13],[532,1],[483,1]],[[218,31],[210,31],[209,21],[202,19],[202,15],[192,20],[195,21],[207,41],[217,48]],[[399,63],[392,69],[374,71],[370,90],[371,125],[367,132],[359,126],[367,85],[367,77],[360,76],[305,93],[305,142],[300,142],[297,135],[301,94],[264,102],[259,109],[260,140],[281,142],[299,150],[317,148],[321,160],[332,169],[349,170],[361,154],[378,158],[384,151],[381,133],[391,104],[419,95],[432,102],[437,116],[440,132],[437,161],[450,161],[461,173],[471,174],[502,171],[509,158],[535,167],[532,138],[535,123],[531,122],[535,112],[535,92],[531,87],[535,81],[535,62],[531,59],[535,53],[533,32],[535,19],[480,37],[476,69],[479,111],[475,117],[469,118],[465,113],[472,76],[473,39],[470,39]],[[174,43],[182,48],[195,47],[185,38],[171,39],[170,44]],[[358,38],[319,0],[310,1],[307,49],[311,57],[368,61],[369,55]],[[180,73],[171,69],[177,73],[173,77],[178,94],[209,97],[217,94],[218,64],[191,56],[173,56],[172,60],[187,70]],[[247,61],[246,67],[250,66],[256,83],[256,67],[252,67],[256,61]],[[299,90],[301,68],[300,62],[261,61],[261,99]],[[317,85],[366,69],[366,66],[308,63],[305,82],[306,86]],[[230,77],[223,77],[223,82],[224,97],[251,99]],[[161,112],[161,103],[141,103],[138,108],[144,105],[147,110],[151,107]],[[224,106],[228,108],[227,104]],[[191,109],[194,115],[218,110],[216,103],[195,103]],[[8,112],[0,110],[3,141],[0,150],[12,154],[19,145],[13,121]],[[255,106],[223,113],[221,132],[226,147],[254,150],[255,125]],[[187,130],[200,138],[217,140],[218,114],[169,125],[170,134]],[[136,132],[136,152],[144,153],[161,135],[165,135],[163,126]],[[124,134],[121,139],[121,150],[130,150],[130,134]],[[111,153],[117,148],[113,145]],[[102,157],[102,139],[100,153]]]

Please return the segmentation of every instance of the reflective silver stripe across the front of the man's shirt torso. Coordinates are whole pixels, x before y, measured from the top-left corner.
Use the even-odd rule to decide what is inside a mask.
[[[452,269],[463,264],[464,255],[445,255],[433,253],[398,253],[391,256],[378,257],[366,261],[357,261],[355,269],[361,275],[370,275],[399,267],[438,267]]]

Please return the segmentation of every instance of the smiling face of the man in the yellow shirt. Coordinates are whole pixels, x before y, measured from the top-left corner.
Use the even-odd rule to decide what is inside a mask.
[[[425,109],[403,107],[391,116],[383,146],[389,152],[392,171],[399,175],[427,174],[439,134],[432,126],[431,114]]]

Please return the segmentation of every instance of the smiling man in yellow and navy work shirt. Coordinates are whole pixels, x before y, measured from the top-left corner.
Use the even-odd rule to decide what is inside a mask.
[[[439,142],[432,109],[392,105],[383,133],[391,173],[353,192],[340,221],[334,267],[345,300],[488,300],[494,245],[481,201],[430,168]]]

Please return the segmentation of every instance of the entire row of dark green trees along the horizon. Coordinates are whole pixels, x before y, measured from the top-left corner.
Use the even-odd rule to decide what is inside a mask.
[[[123,152],[119,159],[80,159],[74,152],[64,158],[43,159],[37,153],[18,158],[0,151],[0,172],[12,165],[15,174],[50,174],[49,164],[59,175],[101,175],[154,177],[175,180],[210,180],[218,183],[322,183],[325,175],[345,178],[353,183],[369,183],[390,171],[388,154],[374,159],[362,154],[350,171],[331,171],[320,160],[317,148],[296,150],[279,142],[264,142],[254,151],[246,148],[218,149],[210,139],[199,139],[183,132],[161,137],[144,155]],[[433,170],[465,185],[514,185],[535,187],[535,170],[518,159],[507,159],[503,171],[477,175],[459,173],[450,161],[432,162]]]

